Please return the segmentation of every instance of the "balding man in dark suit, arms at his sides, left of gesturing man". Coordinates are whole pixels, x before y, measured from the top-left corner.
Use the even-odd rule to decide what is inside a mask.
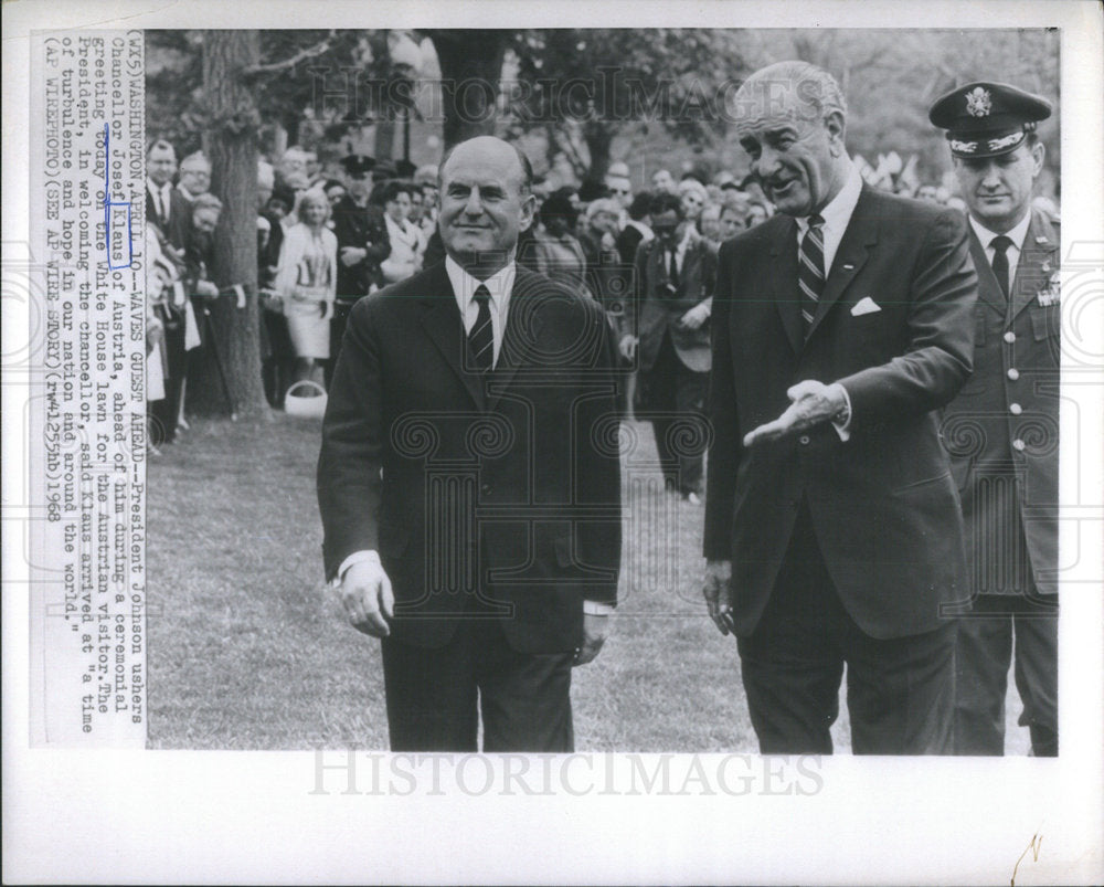
[[[616,601],[614,348],[597,303],[514,263],[529,161],[440,166],[445,262],[357,303],[322,426],[326,573],[382,637],[391,747],[570,751],[571,670]],[[478,699],[478,705],[477,705]]]

